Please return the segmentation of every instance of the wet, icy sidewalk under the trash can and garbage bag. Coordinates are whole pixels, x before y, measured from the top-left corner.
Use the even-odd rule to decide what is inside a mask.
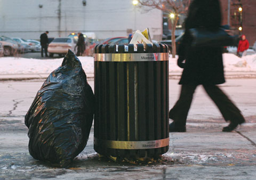
[[[256,117],[247,118],[236,132],[221,132],[225,125],[218,119],[189,120],[187,133],[170,133],[170,149],[162,159],[145,165],[100,159],[93,150],[92,128],[84,151],[69,169],[60,169],[33,159],[28,152],[27,127],[10,124],[1,131],[0,179],[254,180]]]

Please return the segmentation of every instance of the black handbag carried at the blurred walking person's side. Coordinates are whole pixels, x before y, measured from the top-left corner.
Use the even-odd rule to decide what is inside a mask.
[[[230,36],[225,29],[220,27],[218,30],[210,31],[204,27],[189,29],[190,35],[193,40],[191,46],[193,47],[221,47],[233,46],[238,36]]]

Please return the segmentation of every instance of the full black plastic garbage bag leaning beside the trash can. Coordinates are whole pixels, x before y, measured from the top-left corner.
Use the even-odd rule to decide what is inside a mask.
[[[85,148],[94,114],[94,95],[81,62],[70,50],[45,80],[25,116],[29,153],[69,167]]]

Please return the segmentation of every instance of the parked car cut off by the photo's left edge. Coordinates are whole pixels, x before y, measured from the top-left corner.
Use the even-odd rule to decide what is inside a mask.
[[[5,56],[14,55],[18,52],[18,43],[13,39],[6,36],[0,36],[0,43],[3,45]]]

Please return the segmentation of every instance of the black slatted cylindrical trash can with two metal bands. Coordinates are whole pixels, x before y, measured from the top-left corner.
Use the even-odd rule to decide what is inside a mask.
[[[94,150],[119,158],[169,149],[169,50],[165,44],[94,48]]]

